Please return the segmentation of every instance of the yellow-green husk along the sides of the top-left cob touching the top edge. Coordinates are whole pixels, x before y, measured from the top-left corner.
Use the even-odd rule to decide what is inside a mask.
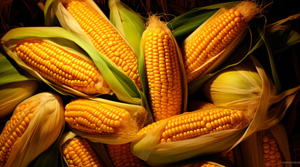
[[[59,24],[62,28],[66,29],[66,31],[75,33],[80,37],[80,40],[84,41],[89,47],[93,48],[93,54],[89,54],[94,61],[94,63],[99,68],[101,74],[106,79],[106,82],[113,90],[113,93],[117,95],[117,98],[122,102],[127,102],[130,104],[144,104],[143,101],[143,93],[138,90],[134,81],[123,72],[120,67],[117,67],[115,63],[112,63],[109,58],[101,54],[94,45],[90,38],[87,37],[83,29],[81,29],[80,25],[76,20],[71,16],[71,14],[64,8],[63,5],[64,0],[48,0],[45,2],[45,26],[52,26],[53,17],[51,13],[55,13],[55,17],[59,20]],[[110,20],[106,17],[106,15],[101,11],[99,6],[92,0],[83,0],[83,3],[87,4],[94,11],[99,13],[101,17],[106,19],[106,21],[110,23]],[[111,24],[113,26],[113,24]],[[117,30],[117,29],[116,29]],[[119,33],[119,32],[118,32]],[[121,33],[119,33],[121,37],[124,39]],[[127,40],[124,40],[127,42]],[[128,42],[127,42],[128,43]],[[129,45],[130,46],[130,45]],[[97,52],[97,53],[95,53]],[[104,67],[103,67],[104,66]],[[106,68],[106,70],[101,70],[101,68]],[[107,73],[104,74],[104,73]],[[105,76],[104,76],[105,75]],[[142,100],[141,100],[142,99]],[[142,102],[143,101],[143,102]],[[146,105],[146,104],[145,104]]]

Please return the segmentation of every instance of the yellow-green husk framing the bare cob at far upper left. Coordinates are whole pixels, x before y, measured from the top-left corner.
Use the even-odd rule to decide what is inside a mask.
[[[88,96],[85,93],[80,93],[79,91],[73,89],[70,90],[65,86],[53,84],[52,82],[41,77],[41,75],[37,74],[37,72],[34,72],[31,67],[26,65],[20,58],[18,58],[17,54],[15,53],[15,45],[17,45],[17,42],[24,38],[38,38],[47,40],[52,44],[57,44],[63,47],[71,53],[80,55],[80,57],[84,58],[85,60],[90,60],[90,58],[92,58],[92,61],[101,72],[103,79],[105,79],[109,88],[113,90],[113,93],[115,93],[119,100],[131,104],[141,104],[141,93],[138,91],[138,89],[136,89],[134,82],[118,67],[115,67],[115,65],[111,64],[107,58],[103,57],[99,51],[85,42],[85,40],[82,40],[80,37],[78,37],[78,35],[70,33],[69,31],[59,27],[24,27],[13,29],[6,33],[6,35],[4,35],[1,39],[1,44],[6,53],[8,53],[8,55],[13,58],[18,65],[27,70],[30,74],[34,75],[34,77],[41,79],[46,84],[52,86],[52,88],[55,88],[55,90],[59,91],[59,93],[64,95],[78,95],[81,97]]]

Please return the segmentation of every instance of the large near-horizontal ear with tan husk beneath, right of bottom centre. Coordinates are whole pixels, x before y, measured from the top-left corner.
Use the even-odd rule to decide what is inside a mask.
[[[227,124],[227,120],[232,122]],[[143,127],[137,134],[141,138],[132,143],[133,153],[150,165],[213,154],[238,141],[245,125],[248,122],[243,111],[217,107],[186,112]]]

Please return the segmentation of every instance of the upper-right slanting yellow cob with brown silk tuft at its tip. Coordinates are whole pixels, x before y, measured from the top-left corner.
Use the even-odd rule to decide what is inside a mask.
[[[187,82],[204,74],[259,12],[256,3],[243,1],[204,23],[182,47]]]

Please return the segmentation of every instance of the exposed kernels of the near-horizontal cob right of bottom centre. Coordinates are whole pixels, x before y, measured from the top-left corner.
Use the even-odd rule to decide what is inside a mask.
[[[225,108],[210,108],[180,114],[173,116],[168,121],[161,134],[159,143],[183,141],[204,134],[239,128],[243,119],[242,111]],[[144,127],[137,135],[146,134],[156,125],[159,125],[159,121]]]

